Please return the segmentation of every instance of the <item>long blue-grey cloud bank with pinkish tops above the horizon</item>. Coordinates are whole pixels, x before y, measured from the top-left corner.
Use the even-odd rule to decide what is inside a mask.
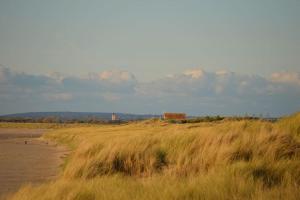
[[[300,110],[300,73],[269,77],[200,68],[138,81],[122,70],[85,77],[18,73],[0,66],[0,114],[28,111],[128,113],[187,112],[190,115],[269,114]]]

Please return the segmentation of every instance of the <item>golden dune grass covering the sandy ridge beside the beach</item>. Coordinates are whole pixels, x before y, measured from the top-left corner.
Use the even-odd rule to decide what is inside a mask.
[[[59,180],[10,199],[299,199],[300,114],[56,129],[74,149]]]

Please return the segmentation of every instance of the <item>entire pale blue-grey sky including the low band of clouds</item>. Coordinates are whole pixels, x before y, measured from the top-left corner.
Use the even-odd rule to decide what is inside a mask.
[[[300,110],[298,0],[1,0],[0,114]]]

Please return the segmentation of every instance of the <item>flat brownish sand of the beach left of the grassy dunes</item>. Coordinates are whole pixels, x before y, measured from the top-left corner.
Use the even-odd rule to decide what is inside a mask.
[[[42,140],[42,129],[0,128],[0,199],[26,183],[55,179],[69,153],[65,147]]]

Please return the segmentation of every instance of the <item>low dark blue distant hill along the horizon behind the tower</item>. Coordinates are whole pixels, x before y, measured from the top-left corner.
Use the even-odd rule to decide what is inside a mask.
[[[140,120],[148,119],[153,117],[159,117],[159,115],[139,115],[139,114],[128,114],[128,113],[116,113],[120,120]],[[12,119],[12,118],[24,118],[24,119],[41,119],[47,117],[58,118],[62,121],[66,120],[111,120],[112,113],[105,112],[28,112],[28,113],[17,113],[2,115],[0,119]]]

